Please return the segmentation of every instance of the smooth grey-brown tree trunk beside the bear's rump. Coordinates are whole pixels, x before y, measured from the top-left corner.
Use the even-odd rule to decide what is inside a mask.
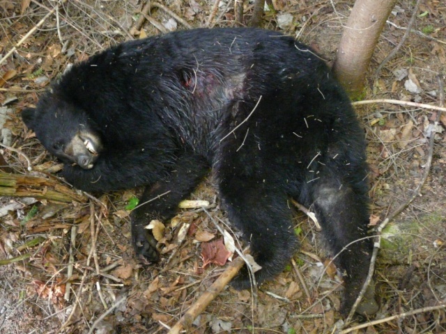
[[[356,0],[344,28],[333,72],[351,97],[362,93],[371,55],[397,0]]]

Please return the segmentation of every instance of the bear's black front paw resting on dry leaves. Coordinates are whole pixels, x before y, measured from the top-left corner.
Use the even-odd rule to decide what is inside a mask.
[[[160,255],[156,249],[155,237],[144,228],[144,225],[132,226],[132,241],[137,258],[144,264],[158,262]]]

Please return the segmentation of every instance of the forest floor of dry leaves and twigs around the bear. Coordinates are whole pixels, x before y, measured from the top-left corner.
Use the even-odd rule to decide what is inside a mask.
[[[0,118],[2,143],[14,149],[1,148],[1,170],[29,173],[24,155],[31,160],[32,175],[56,175],[61,169],[24,128],[20,112],[35,105],[43,89],[68,65],[123,40],[186,29],[185,24],[233,26],[234,2],[220,1],[215,15],[213,2],[153,3],[150,22],[145,19],[136,31],[132,27],[145,1],[0,0],[0,56],[24,40],[0,63],[0,117],[8,116]],[[252,3],[245,2],[247,23]],[[295,36],[332,63],[353,2],[272,1],[274,8],[265,12],[263,28]],[[52,10],[55,6],[57,10]],[[440,73],[446,70],[444,1],[420,1],[413,31],[375,74],[403,40],[414,6],[415,1],[398,1],[392,11],[374,52],[362,100],[441,104],[441,90],[446,91],[438,80],[445,79]],[[37,27],[40,20],[43,24]],[[33,33],[26,36],[29,32]],[[430,154],[430,125],[438,111],[390,103],[355,109],[367,133],[372,224],[406,202],[423,175],[429,175],[420,194],[383,232],[374,276],[378,314],[372,319],[357,317],[346,329],[446,333],[446,113],[440,117]],[[426,170],[429,157],[431,168]],[[45,184],[38,190],[45,193],[53,186]],[[75,194],[74,189],[63,189]],[[134,258],[128,216],[140,190],[88,198],[77,194],[78,200],[65,204],[0,198],[0,333],[167,333],[174,326],[227,267],[203,265],[203,245],[222,239],[215,224],[235,238],[239,234],[229,230],[213,180],[208,179],[190,198],[207,200],[208,213],[181,209],[160,241],[162,262],[145,267]],[[295,216],[295,228],[302,247],[282,274],[262,285],[254,297],[225,287],[187,333],[333,333],[342,326],[337,312],[342,287],[336,268],[325,267],[330,257],[305,214]],[[180,231],[187,231],[187,237],[182,239]],[[354,328],[372,320],[377,320],[373,326]]]

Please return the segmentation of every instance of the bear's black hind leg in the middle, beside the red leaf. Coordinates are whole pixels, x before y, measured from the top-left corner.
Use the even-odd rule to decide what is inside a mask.
[[[243,231],[254,260],[262,267],[255,273],[256,283],[282,272],[298,248],[286,195],[275,191],[274,184],[268,186],[262,180],[240,175],[221,179],[220,195],[231,223]],[[244,268],[231,285],[249,289],[251,281]]]

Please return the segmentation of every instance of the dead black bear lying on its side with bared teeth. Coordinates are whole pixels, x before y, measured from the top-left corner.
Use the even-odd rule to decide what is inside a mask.
[[[158,260],[144,226],[174,216],[212,168],[262,267],[257,283],[280,273],[298,246],[293,198],[341,252],[341,310],[355,301],[372,248],[364,133],[328,67],[293,38],[194,29],[125,42],[74,65],[22,117],[75,187],[146,186],[140,203],[164,194],[132,212],[139,257]],[[249,287],[246,270],[233,285]]]

